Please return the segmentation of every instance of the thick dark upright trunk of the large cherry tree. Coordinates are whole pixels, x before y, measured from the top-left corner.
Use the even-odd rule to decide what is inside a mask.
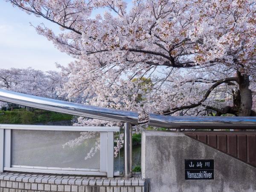
[[[237,79],[238,79],[239,91],[241,95],[241,104],[240,104],[238,116],[250,116],[251,109],[253,106],[253,96],[252,96],[252,91],[249,89],[249,86],[250,86],[249,76],[246,74],[241,75],[241,73],[238,71]]]

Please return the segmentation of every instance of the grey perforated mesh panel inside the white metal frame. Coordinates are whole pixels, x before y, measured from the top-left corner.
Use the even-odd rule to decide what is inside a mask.
[[[100,169],[99,145],[99,132],[12,130],[12,165]]]

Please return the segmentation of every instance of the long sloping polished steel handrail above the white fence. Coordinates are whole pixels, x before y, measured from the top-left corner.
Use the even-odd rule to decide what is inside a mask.
[[[32,96],[3,89],[0,89],[0,101],[95,119],[124,123],[130,122],[133,125],[138,123],[138,113],[136,112],[81,105],[79,103]]]

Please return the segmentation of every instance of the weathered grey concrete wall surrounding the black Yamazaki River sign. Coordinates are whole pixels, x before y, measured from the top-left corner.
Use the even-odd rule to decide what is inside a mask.
[[[214,159],[214,180],[185,180],[185,159]],[[142,177],[151,192],[255,192],[256,168],[180,132],[144,131]]]

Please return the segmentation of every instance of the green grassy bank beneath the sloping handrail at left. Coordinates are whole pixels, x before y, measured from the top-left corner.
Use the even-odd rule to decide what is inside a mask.
[[[35,124],[71,120],[72,115],[52,111],[15,109],[14,111],[0,111],[0,124]]]

